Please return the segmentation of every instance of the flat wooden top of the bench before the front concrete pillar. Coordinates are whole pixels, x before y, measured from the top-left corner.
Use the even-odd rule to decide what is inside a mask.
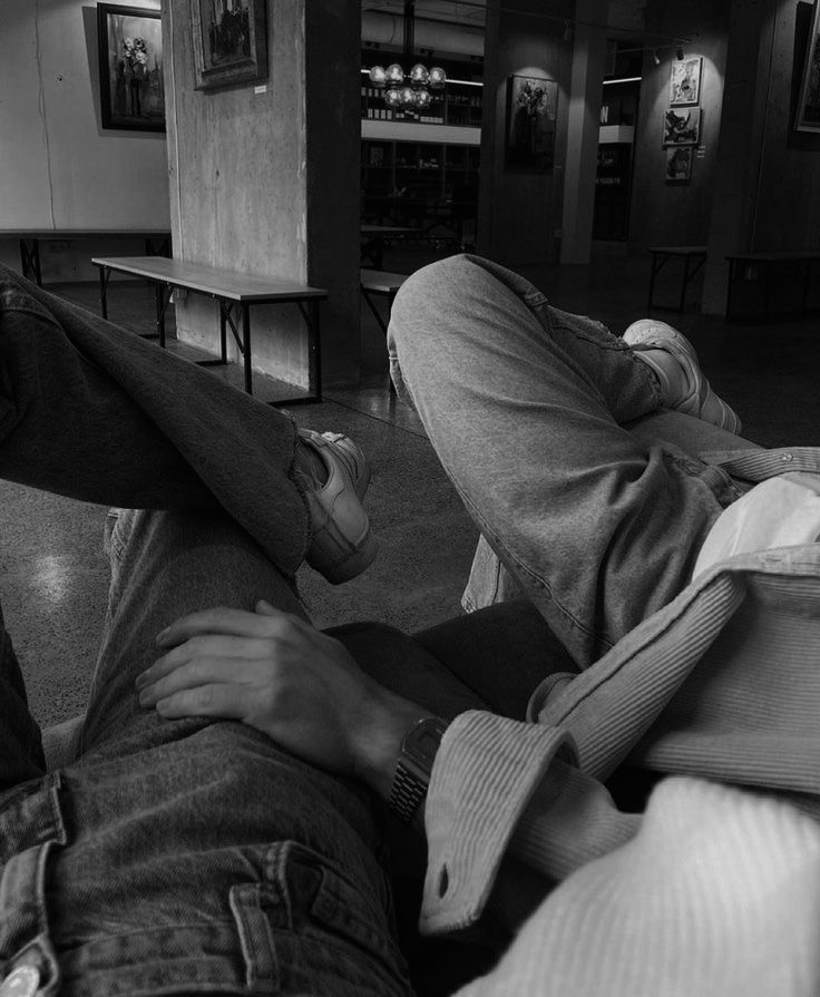
[[[296,281],[258,277],[166,256],[94,256],[95,266],[238,302],[304,301],[328,292]]]

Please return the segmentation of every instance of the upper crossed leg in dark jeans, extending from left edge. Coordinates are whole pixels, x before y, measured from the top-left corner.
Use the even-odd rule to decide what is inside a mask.
[[[296,439],[277,410],[0,267],[0,477],[106,506],[223,507],[293,575],[310,535]]]

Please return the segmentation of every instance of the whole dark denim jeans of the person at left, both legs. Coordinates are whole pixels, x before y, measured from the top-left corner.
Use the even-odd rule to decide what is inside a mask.
[[[139,507],[109,517],[81,753],[58,772],[0,615],[0,979],[32,967],[38,994],[94,997],[410,993],[370,795],[242,724],[164,721],[134,690],[186,613],[264,597],[303,615],[294,441],[282,413],[0,273],[0,476]]]

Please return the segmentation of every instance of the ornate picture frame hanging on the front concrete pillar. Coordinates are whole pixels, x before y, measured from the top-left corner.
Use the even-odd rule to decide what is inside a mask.
[[[266,0],[191,0],[197,90],[267,78]]]

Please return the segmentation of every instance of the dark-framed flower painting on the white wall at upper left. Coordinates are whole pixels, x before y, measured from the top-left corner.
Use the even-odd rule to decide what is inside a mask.
[[[97,47],[102,127],[165,131],[159,11],[98,3]]]

